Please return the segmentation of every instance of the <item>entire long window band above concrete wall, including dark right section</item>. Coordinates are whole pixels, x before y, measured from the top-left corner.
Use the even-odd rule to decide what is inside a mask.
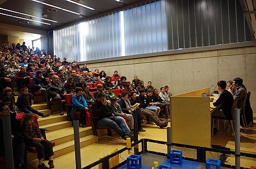
[[[69,61],[252,41],[239,0],[160,0],[53,31]]]

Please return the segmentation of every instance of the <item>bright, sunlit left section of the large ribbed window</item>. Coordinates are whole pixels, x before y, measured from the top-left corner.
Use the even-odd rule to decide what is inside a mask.
[[[157,1],[53,31],[54,54],[70,61],[166,51],[165,1]]]

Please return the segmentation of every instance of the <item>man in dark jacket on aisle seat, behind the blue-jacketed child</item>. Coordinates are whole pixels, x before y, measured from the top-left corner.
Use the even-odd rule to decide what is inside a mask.
[[[63,114],[63,106],[62,106],[62,99],[64,99],[64,95],[67,94],[65,88],[59,83],[58,76],[52,76],[52,82],[47,86],[47,94],[52,100],[51,102],[55,102],[58,105],[60,110],[60,115]]]

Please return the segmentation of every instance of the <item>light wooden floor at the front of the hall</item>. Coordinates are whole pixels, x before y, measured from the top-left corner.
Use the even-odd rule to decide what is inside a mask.
[[[254,113],[255,115],[255,113]],[[50,116],[51,117],[51,116]],[[170,123],[169,123],[170,126]],[[151,138],[153,140],[161,140],[166,141],[166,128],[159,128],[155,125],[145,125],[144,126],[146,132],[139,133],[140,138]],[[220,126],[221,130],[217,135],[212,137],[212,144],[221,145],[224,147],[229,147],[231,150],[235,149],[235,142],[232,136],[232,132],[223,131],[222,126]],[[251,125],[247,129],[247,133],[244,133],[243,129],[241,131],[241,151],[256,153],[256,125]],[[56,136],[57,137],[57,136]],[[105,136],[100,138],[100,141],[97,143],[93,143],[92,145],[88,145],[86,147],[81,148],[81,163],[82,167],[99,160],[99,158],[110,154],[115,148],[123,148],[126,146],[126,142],[122,140],[121,137],[114,134],[114,137]],[[149,143],[149,150],[165,152],[167,151],[166,146],[156,145],[155,143]],[[184,150],[183,148],[179,148],[179,150],[183,150],[184,156],[195,157],[196,152],[194,150]],[[211,158],[218,158],[220,154],[217,153],[209,153],[207,156]],[[127,152],[121,153],[120,161],[126,159],[129,156]],[[157,160],[156,160],[157,161]],[[234,165],[234,157],[228,157],[229,165]],[[47,161],[45,161],[47,163]],[[75,167],[75,152],[67,153],[66,155],[54,158],[55,168],[76,168]],[[37,168],[38,162],[35,161],[29,165],[29,168]],[[241,165],[244,167],[250,168],[250,166],[256,166],[256,159],[244,159],[241,158]],[[94,167],[94,168],[97,168]]]

